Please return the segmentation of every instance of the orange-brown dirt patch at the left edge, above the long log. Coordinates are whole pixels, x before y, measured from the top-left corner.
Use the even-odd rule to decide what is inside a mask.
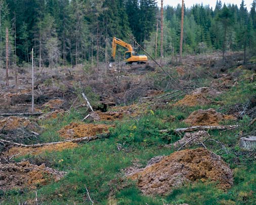
[[[29,120],[21,117],[6,117],[0,120],[0,129],[12,130],[20,127],[26,127],[29,125]]]

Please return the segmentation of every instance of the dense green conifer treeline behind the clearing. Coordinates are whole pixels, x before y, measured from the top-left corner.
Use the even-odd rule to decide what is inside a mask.
[[[185,2],[186,3],[186,2]],[[240,6],[185,8],[184,52],[255,51],[256,0]],[[0,0],[0,66],[5,66],[9,29],[10,64],[37,66],[97,64],[108,61],[113,36],[160,55],[160,9],[154,0]],[[164,8],[164,56],[179,54],[181,5]],[[158,27],[158,33],[156,33]],[[158,40],[158,41],[157,41]],[[157,47],[156,47],[157,42]],[[118,52],[121,56],[122,52]]]

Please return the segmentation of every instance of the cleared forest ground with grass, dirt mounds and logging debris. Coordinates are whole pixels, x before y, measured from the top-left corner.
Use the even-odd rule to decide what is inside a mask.
[[[256,61],[242,56],[165,59],[169,75],[36,69],[34,115],[30,69],[9,87],[1,71],[0,204],[255,204],[256,152],[239,141],[256,134]]]

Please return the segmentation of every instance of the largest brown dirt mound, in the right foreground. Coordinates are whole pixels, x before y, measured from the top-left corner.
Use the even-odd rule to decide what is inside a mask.
[[[233,173],[227,164],[220,156],[203,148],[175,152],[128,178],[138,180],[144,194],[161,195],[197,180],[216,181],[223,189],[233,184]]]

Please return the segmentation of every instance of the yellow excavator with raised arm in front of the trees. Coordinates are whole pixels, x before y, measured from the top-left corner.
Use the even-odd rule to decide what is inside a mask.
[[[115,52],[116,52],[117,44],[127,48],[128,50],[124,53],[124,56],[123,56],[126,64],[132,64],[133,62],[146,63],[148,61],[148,57],[146,55],[138,55],[134,51],[133,46],[131,44],[125,43],[124,41],[114,37],[112,41],[112,59],[111,59],[112,62],[115,60]]]

